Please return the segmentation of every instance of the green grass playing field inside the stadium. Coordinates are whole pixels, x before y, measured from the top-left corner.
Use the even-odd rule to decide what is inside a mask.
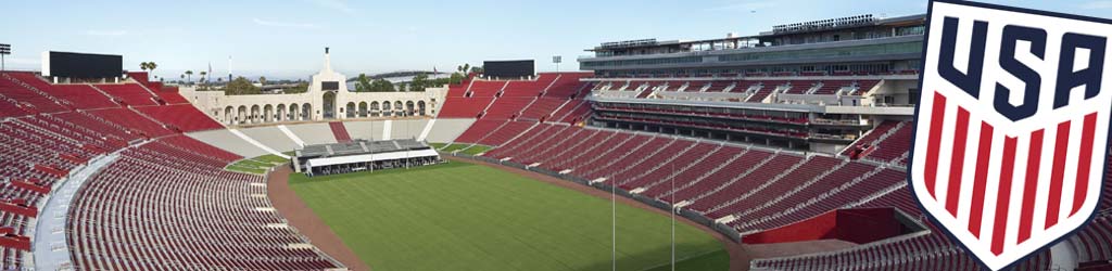
[[[290,177],[375,270],[610,270],[610,201],[485,165]],[[617,205],[618,270],[668,270],[671,220]],[[708,233],[676,223],[678,270],[726,270]]]

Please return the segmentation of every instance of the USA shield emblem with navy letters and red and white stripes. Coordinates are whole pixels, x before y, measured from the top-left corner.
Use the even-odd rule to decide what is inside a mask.
[[[1112,22],[949,0],[927,17],[911,188],[947,235],[1004,269],[1095,212]]]

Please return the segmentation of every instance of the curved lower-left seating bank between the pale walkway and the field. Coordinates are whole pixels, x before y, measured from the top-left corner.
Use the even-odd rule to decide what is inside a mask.
[[[267,227],[285,220],[275,212],[256,211],[270,207],[266,198],[245,197],[265,194],[266,187],[251,184],[266,180],[224,171],[221,162],[160,141],[125,151],[73,197],[67,237],[75,268],[340,267],[316,249],[292,248],[308,240],[291,228]]]

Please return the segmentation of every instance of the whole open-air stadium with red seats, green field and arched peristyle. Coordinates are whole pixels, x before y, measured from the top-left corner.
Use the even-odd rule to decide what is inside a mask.
[[[907,188],[925,30],[600,42],[394,92],[339,48],[260,94],[43,52],[0,73],[2,268],[981,270]],[[1103,188],[1015,270],[1112,269]]]

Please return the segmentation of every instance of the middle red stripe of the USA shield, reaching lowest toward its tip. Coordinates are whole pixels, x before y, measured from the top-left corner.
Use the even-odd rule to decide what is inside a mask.
[[[996,189],[996,213],[992,230],[992,253],[1004,253],[1007,233],[1007,204],[1012,192],[1012,172],[1015,169],[1015,138],[1004,137],[1004,155],[1000,164],[1000,188]]]

